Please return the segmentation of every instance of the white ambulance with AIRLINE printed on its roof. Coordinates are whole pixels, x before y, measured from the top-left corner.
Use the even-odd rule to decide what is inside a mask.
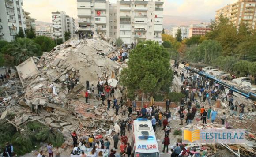
[[[132,125],[132,153],[135,157],[159,157],[158,143],[152,123],[138,118]]]

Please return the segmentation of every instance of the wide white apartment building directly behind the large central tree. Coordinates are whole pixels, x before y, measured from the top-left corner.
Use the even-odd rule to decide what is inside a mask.
[[[117,1],[117,38],[130,45],[139,40],[162,43],[162,1]]]

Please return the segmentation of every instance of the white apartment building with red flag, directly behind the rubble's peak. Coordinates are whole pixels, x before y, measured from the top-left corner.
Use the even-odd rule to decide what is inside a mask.
[[[109,1],[77,0],[79,33],[105,34],[109,37]]]

